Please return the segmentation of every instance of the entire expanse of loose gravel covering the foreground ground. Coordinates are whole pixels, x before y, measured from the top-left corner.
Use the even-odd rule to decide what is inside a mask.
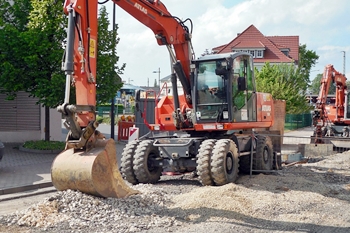
[[[219,187],[185,175],[133,188],[125,199],[57,192],[0,216],[0,232],[350,232],[350,152]]]

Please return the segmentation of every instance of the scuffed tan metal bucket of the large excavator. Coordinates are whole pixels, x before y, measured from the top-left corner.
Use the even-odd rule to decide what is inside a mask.
[[[59,191],[72,189],[115,198],[139,193],[130,188],[119,173],[113,139],[100,141],[87,152],[63,151],[52,163],[51,179]]]

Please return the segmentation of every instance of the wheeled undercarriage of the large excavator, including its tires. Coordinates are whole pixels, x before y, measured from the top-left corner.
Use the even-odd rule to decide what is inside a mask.
[[[251,135],[142,138],[125,146],[121,173],[132,184],[156,183],[162,174],[193,172],[203,185],[224,185],[235,182],[238,172],[250,172],[251,154],[253,169],[276,168],[271,139],[255,138],[253,145]]]

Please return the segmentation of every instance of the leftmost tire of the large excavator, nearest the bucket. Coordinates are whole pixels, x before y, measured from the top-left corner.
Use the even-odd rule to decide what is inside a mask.
[[[122,177],[131,184],[138,184],[134,173],[134,154],[140,141],[135,140],[126,144],[121,158],[120,172]]]

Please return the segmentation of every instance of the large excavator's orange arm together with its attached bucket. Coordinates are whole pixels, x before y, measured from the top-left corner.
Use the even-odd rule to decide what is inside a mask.
[[[113,0],[149,27],[159,45],[170,53],[174,70],[190,96],[191,32],[185,22],[172,16],[159,0]],[[58,107],[69,129],[66,148],[51,167],[58,190],[74,189],[103,197],[126,197],[137,193],[119,173],[114,140],[106,140],[96,128],[96,59],[98,50],[98,0],[66,0],[67,40],[63,70],[66,75],[64,104]],[[76,104],[69,104],[75,86]],[[191,103],[190,98],[187,98]]]

